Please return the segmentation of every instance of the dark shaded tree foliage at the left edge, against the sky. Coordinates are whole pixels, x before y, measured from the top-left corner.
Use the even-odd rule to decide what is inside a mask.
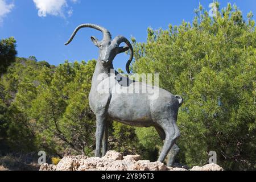
[[[0,76],[15,61],[17,54],[15,47],[16,40],[13,37],[0,40]]]

